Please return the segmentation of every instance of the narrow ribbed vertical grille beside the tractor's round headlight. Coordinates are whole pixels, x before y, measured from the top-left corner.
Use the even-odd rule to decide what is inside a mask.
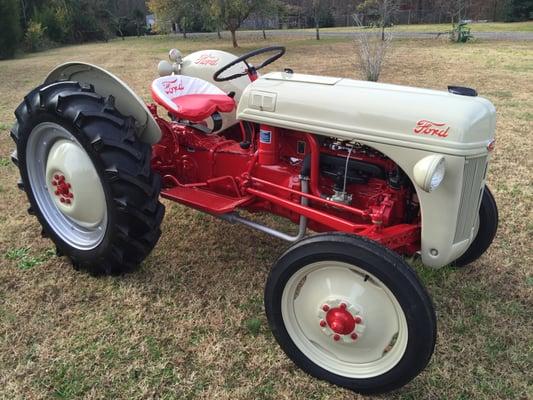
[[[481,183],[487,172],[487,157],[467,158],[463,171],[463,190],[459,203],[459,215],[453,242],[459,243],[470,237],[475,217],[479,213]]]

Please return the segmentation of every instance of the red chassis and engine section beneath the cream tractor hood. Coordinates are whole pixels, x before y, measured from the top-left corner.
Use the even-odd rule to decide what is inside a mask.
[[[152,168],[163,177],[164,198],[286,240],[303,237],[309,227],[365,236],[406,255],[420,249],[414,188],[383,154],[247,122],[206,134],[161,118],[155,105],[149,109],[163,135],[153,146]],[[334,197],[340,189],[349,201]],[[236,208],[299,222],[300,234],[288,236],[244,220]]]

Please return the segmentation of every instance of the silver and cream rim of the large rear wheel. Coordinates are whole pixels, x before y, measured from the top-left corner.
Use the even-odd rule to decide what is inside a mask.
[[[43,122],[26,147],[29,184],[43,217],[68,245],[97,247],[107,228],[104,189],[94,164],[62,126]]]

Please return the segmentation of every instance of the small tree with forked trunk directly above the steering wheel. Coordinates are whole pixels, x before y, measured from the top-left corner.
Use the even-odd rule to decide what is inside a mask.
[[[237,43],[237,29],[243,21],[257,9],[262,0],[214,0],[211,2],[211,14],[231,33],[233,47]]]

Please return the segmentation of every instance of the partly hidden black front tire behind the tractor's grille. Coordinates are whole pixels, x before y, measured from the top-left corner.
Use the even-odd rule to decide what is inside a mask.
[[[455,267],[464,267],[481,257],[492,244],[498,230],[498,207],[490,189],[485,186],[479,208],[479,229],[466,252],[454,261]]]

